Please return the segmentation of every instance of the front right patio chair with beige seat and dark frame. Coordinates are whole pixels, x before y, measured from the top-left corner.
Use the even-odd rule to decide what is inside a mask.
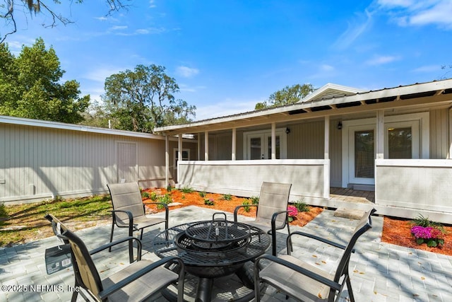
[[[355,231],[345,245],[335,243],[331,240],[295,231],[287,238],[287,245],[291,236],[306,236],[319,240],[335,248],[343,250],[338,267],[335,272],[326,272],[317,265],[310,265],[297,257],[290,255],[290,249],[287,246],[288,255],[262,255],[254,262],[254,286],[256,292],[256,302],[261,298],[261,285],[270,284],[287,296],[295,298],[297,301],[338,301],[342,294],[343,287],[347,284],[348,296],[350,301],[354,302],[352,284],[350,283],[349,262],[350,254],[354,252],[353,247],[359,236],[371,228],[371,214],[375,209],[371,209],[365,214],[357,224]],[[261,269],[262,260],[269,261],[269,264]],[[337,297],[336,297],[337,295]]]

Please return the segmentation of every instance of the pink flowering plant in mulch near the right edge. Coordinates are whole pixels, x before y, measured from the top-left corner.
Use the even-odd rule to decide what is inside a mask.
[[[440,247],[444,244],[444,227],[425,218],[421,214],[411,221],[411,234],[415,236],[417,244],[426,243],[429,247]]]

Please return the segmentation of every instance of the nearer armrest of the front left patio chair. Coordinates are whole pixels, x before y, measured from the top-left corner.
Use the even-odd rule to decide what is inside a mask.
[[[181,266],[181,270],[179,273],[179,282],[184,281],[184,262],[182,262],[182,259],[176,256],[169,256],[162,258],[158,260],[157,262],[153,262],[152,264],[148,265],[147,267],[144,267],[143,269],[140,269],[138,272],[135,272],[131,274],[129,277],[126,277],[119,281],[117,284],[114,284],[113,286],[110,286],[108,289],[104,289],[103,291],[100,291],[99,298],[100,300],[104,300],[111,294],[113,294],[116,291],[119,291],[119,289],[123,288],[127,284],[130,284],[131,282],[135,281],[136,279],[143,277],[143,275],[148,274],[148,272],[152,271],[153,269],[160,267],[162,265],[165,265],[169,262],[179,262],[179,265]]]

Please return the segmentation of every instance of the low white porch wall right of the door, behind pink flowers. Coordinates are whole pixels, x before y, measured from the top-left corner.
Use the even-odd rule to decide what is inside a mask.
[[[376,160],[375,203],[381,214],[452,223],[451,180],[452,161]]]

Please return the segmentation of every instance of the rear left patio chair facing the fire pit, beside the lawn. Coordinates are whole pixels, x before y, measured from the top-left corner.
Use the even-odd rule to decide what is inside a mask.
[[[165,207],[165,218],[146,216],[145,205],[141,199],[141,191],[137,182],[126,182],[118,184],[108,184],[108,190],[112,197],[113,221],[110,242],[113,241],[113,231],[116,225],[119,228],[129,228],[129,236],[133,236],[133,231],[141,231],[140,240],[143,239],[143,229],[155,226],[158,223],[165,223],[165,230],[168,228],[168,206],[162,202],[150,202],[150,204],[161,204]],[[131,245],[129,245],[131,250]],[[109,252],[111,252],[109,248]]]

